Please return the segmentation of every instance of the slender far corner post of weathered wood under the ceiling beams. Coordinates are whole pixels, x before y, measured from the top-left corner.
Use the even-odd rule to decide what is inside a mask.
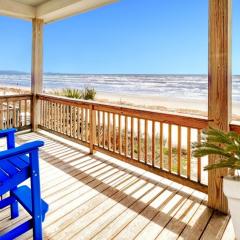
[[[32,77],[31,87],[33,103],[31,109],[32,130],[37,131],[40,123],[40,103],[36,94],[42,93],[43,81],[43,20],[33,19],[32,21]]]

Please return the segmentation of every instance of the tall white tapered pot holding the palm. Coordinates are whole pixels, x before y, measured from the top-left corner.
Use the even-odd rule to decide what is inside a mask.
[[[240,240],[240,177],[224,177],[223,192],[228,199],[236,238]]]

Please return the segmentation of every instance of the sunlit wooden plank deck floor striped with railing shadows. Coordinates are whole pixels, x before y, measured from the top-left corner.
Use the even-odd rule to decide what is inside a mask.
[[[229,216],[206,206],[207,196],[49,135],[27,133],[19,144],[42,139],[42,195],[50,205],[45,239],[234,239]],[[24,221],[0,212],[1,232]],[[31,232],[20,239],[31,239]]]

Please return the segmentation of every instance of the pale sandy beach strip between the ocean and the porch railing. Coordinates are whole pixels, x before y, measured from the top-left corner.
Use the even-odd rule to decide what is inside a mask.
[[[53,92],[54,89],[45,90],[45,93]],[[30,89],[20,86],[0,86],[0,95],[26,94]],[[187,114],[192,116],[207,116],[207,100],[183,99],[176,97],[149,96],[143,98],[142,95],[125,93],[97,92],[96,101],[104,103],[134,106],[175,114]],[[233,120],[240,121],[240,103],[233,103]]]

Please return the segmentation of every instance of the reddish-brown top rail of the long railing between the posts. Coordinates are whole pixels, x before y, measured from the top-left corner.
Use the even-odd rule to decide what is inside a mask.
[[[164,113],[156,110],[121,106],[117,104],[101,103],[96,101],[70,99],[67,97],[52,96],[47,94],[38,94],[38,97],[42,100],[54,100],[56,103],[73,104],[74,106],[93,108],[93,110],[111,112],[151,121],[180,125],[184,127],[203,129],[208,125],[208,120],[204,117],[192,117],[187,115]]]

